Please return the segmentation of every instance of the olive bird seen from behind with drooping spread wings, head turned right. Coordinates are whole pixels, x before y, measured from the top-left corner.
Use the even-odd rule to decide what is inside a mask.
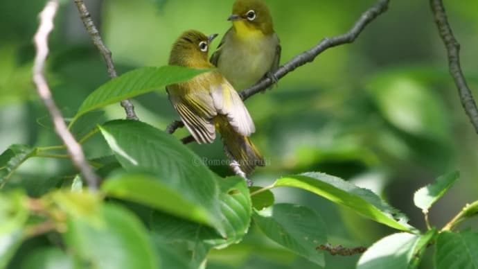
[[[209,44],[217,36],[197,31],[184,32],[169,58],[170,65],[213,69],[208,60]],[[233,171],[245,178],[255,166],[264,166],[264,159],[249,140],[255,132],[254,122],[236,90],[215,70],[187,81],[166,87],[169,99],[182,122],[199,144],[212,143],[215,131],[221,134],[224,152],[231,159]]]

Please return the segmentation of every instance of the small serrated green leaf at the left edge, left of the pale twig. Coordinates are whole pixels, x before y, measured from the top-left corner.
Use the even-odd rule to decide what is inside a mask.
[[[14,144],[8,147],[0,155],[0,189],[17,170],[18,166],[36,153],[36,148],[30,148],[26,145]]]

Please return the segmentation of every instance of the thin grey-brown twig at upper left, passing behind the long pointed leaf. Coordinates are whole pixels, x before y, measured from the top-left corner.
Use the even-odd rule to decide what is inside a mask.
[[[101,55],[103,55],[103,58],[105,59],[109,77],[116,78],[118,75],[116,73],[116,69],[114,68],[112,53],[103,43],[100,33],[98,32],[98,29],[93,22],[93,19],[91,19],[91,15],[89,14],[85,2],[83,2],[83,0],[74,1],[78,8],[78,12],[80,12],[81,20],[83,21],[83,24],[85,25],[85,28],[87,29],[87,32],[89,33],[93,44],[96,46],[98,51],[100,51]],[[136,121],[139,120],[138,116],[136,116],[136,113],[134,113],[134,105],[131,103],[130,100],[125,99],[121,101],[121,106],[125,109],[126,119],[134,119]]]

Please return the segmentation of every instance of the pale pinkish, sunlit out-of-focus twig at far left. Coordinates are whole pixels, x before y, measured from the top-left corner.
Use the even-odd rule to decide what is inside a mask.
[[[87,163],[80,144],[78,144],[71,132],[69,132],[67,124],[64,123],[63,116],[53,101],[50,88],[44,77],[44,65],[46,56],[48,55],[48,35],[53,30],[53,19],[57,9],[58,0],[50,0],[46,3],[44,10],[39,14],[40,24],[34,37],[37,55],[35,56],[35,64],[33,66],[33,82],[37,87],[37,92],[40,98],[42,98],[42,101],[46,105],[46,108],[53,119],[55,131],[62,139],[64,145],[67,146],[73,164],[85,177],[90,188],[97,189],[98,177],[95,175],[93,169],[91,169],[91,166]]]

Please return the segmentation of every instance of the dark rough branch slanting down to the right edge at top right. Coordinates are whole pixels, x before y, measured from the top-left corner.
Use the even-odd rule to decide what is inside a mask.
[[[466,114],[470,118],[475,131],[478,133],[478,110],[475,99],[466,83],[460,65],[460,44],[455,39],[452,28],[448,23],[445,7],[442,0],[430,0],[430,7],[435,17],[435,24],[439,29],[439,33],[448,53],[448,64],[450,66],[450,75],[457,85],[461,105]]]

